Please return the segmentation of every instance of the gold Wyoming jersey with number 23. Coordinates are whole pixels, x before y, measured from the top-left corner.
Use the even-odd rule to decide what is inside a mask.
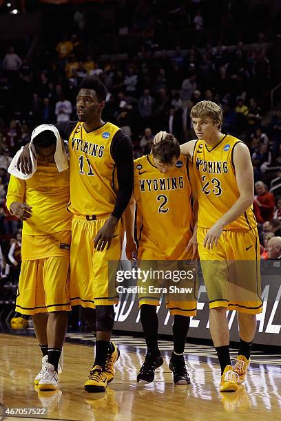
[[[198,190],[198,226],[211,228],[225,215],[240,197],[233,150],[241,141],[224,135],[216,147],[209,147],[204,140],[197,140],[192,158]],[[249,230],[256,227],[252,206],[225,230]]]

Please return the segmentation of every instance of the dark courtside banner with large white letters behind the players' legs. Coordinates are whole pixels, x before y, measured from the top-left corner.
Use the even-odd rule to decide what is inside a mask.
[[[126,264],[130,264],[127,262]],[[257,315],[257,330],[255,343],[281,346],[281,261],[262,261],[261,264],[261,298],[263,310]],[[120,284],[119,284],[120,285]],[[129,291],[129,292],[127,292]],[[120,301],[116,305],[115,330],[141,332],[141,321],[138,308],[138,290],[119,288]],[[202,272],[198,270],[198,303],[197,314],[191,317],[189,337],[208,338],[209,332],[209,301],[202,279]],[[229,321],[230,340],[239,341],[237,312],[227,312]],[[160,296],[158,307],[159,334],[171,335],[173,316],[165,308],[165,298]]]

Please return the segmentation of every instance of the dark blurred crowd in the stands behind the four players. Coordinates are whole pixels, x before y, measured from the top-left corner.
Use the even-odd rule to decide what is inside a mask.
[[[6,208],[8,166],[35,126],[76,120],[87,75],[107,86],[103,119],[132,138],[135,158],[149,153],[160,130],[180,143],[194,139],[191,107],[217,102],[222,132],[251,153],[262,258],[281,258],[278,241],[269,252],[281,235],[281,100],[278,91],[271,97],[281,82],[281,35],[280,14],[268,3],[124,0],[54,9],[21,2],[23,12],[43,12],[42,29],[0,41],[2,278],[16,284],[21,262],[21,223]]]

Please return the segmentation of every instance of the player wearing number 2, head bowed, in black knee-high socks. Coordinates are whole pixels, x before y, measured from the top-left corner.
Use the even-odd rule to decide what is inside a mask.
[[[134,241],[135,202],[138,250]],[[185,205],[179,206],[180,202]],[[165,140],[152,146],[151,154],[134,161],[134,194],[125,210],[124,218],[127,258],[131,260],[137,254],[139,268],[159,270],[163,268],[161,263],[158,266],[156,261],[190,260],[193,257],[193,250],[187,251],[194,226],[189,161],[180,155],[180,145],[174,136],[167,135]],[[186,281],[183,281],[183,284],[187,286]],[[157,280],[149,280],[149,285],[158,286]],[[169,292],[165,296],[166,306],[170,314],[174,315],[174,352],[171,354],[169,368],[173,372],[175,385],[190,383],[183,354],[190,316],[196,314],[196,274],[191,288],[190,296],[173,296]],[[138,294],[141,323],[147,343],[145,363],[138,373],[138,382],[152,382],[154,371],[163,364],[157,338],[156,307],[159,305],[159,299],[160,294],[149,293],[149,288]]]

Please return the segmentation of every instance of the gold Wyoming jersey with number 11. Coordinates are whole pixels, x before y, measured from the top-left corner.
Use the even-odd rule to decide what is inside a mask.
[[[116,164],[111,144],[117,126],[107,122],[87,133],[78,122],[69,138],[70,204],[74,215],[103,217],[114,210],[118,193]]]

